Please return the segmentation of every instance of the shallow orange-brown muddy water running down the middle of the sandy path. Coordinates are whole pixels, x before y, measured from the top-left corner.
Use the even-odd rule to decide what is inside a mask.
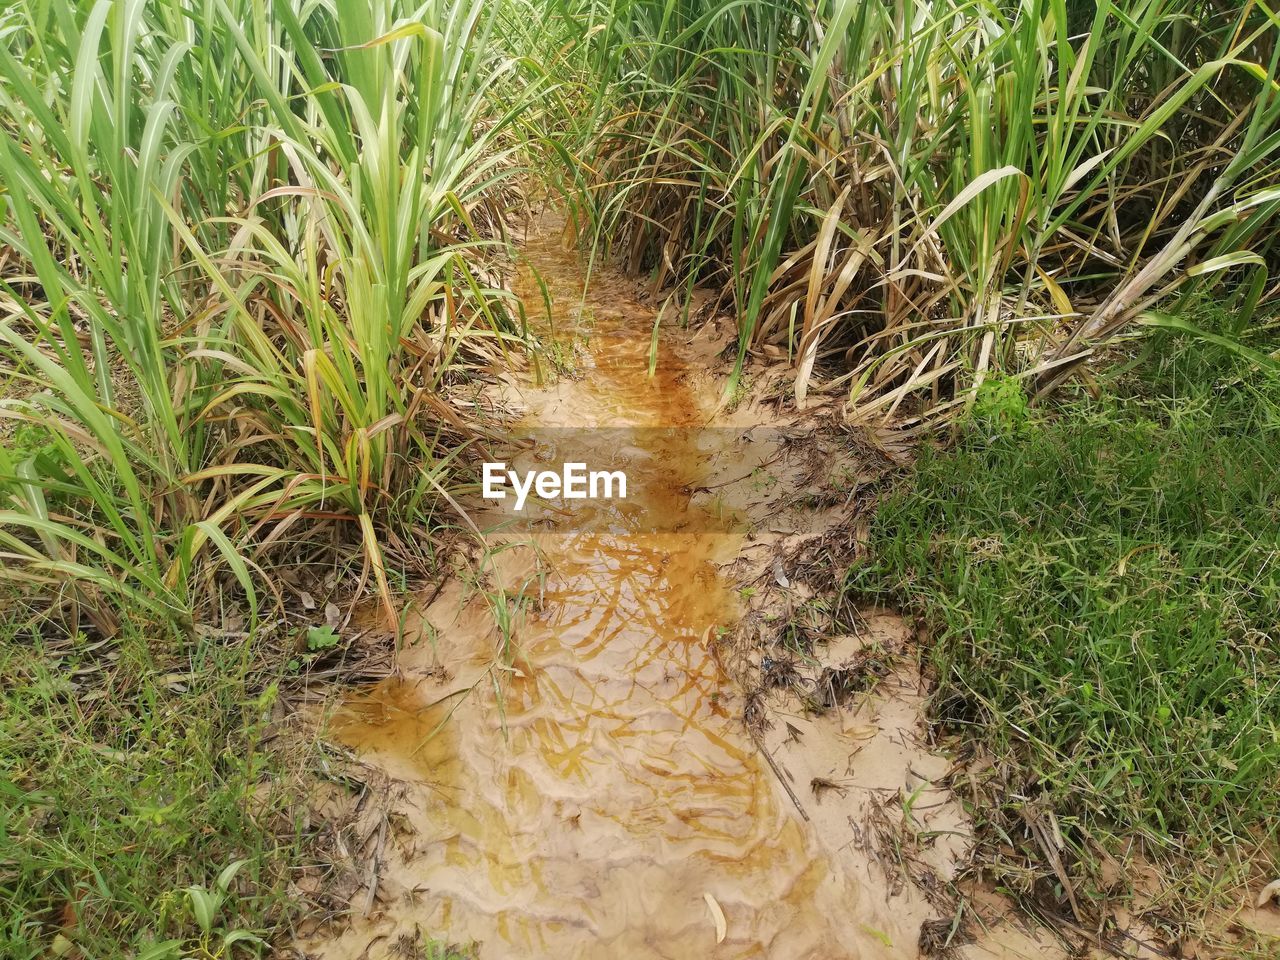
[[[509,637],[480,593],[445,594],[403,676],[339,717],[340,739],[407,786],[388,902],[308,952],[358,955],[419,928],[485,959],[914,956],[913,942],[890,947],[891,920],[870,919],[796,814],[717,663],[710,640],[736,616],[718,564],[740,541],[690,503],[709,457],[698,434],[645,429],[710,421],[710,352],[662,340],[650,378],[654,314],[631,282],[596,275],[584,296],[554,233],[526,256],[556,334],[585,338],[581,376],[522,387],[526,424],[635,428],[634,449],[611,434],[598,453],[611,468],[644,460],[644,481],[593,507],[607,512],[594,522],[536,536],[540,603]],[[543,312],[527,270],[521,294]],[[663,532],[645,531],[655,515]],[[705,895],[726,918],[721,943]]]

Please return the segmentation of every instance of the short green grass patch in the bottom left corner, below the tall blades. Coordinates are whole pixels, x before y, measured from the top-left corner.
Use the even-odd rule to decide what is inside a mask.
[[[177,663],[173,643],[0,643],[0,956],[248,956],[287,918],[271,687],[247,687],[243,644]]]

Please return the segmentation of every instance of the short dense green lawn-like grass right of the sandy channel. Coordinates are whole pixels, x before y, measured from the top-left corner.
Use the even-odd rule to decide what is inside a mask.
[[[851,585],[933,635],[937,716],[1065,838],[1265,828],[1280,762],[1280,385],[1166,339],[1050,415],[925,447]]]

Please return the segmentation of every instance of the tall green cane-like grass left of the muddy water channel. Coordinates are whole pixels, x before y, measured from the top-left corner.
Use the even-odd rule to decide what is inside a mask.
[[[513,326],[535,95],[479,0],[22,0],[0,20],[5,575],[184,620],[264,556],[425,532]],[[508,93],[512,96],[508,97]]]

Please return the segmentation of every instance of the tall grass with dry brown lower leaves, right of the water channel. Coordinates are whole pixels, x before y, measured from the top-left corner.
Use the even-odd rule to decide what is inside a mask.
[[[1219,0],[544,3],[593,238],[795,394],[924,429],[1156,305],[1274,292],[1280,20]],[[568,47],[572,52],[566,54]]]

